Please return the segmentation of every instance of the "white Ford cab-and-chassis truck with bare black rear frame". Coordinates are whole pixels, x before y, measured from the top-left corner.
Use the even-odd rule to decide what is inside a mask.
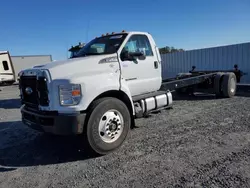
[[[136,118],[170,107],[173,91],[236,92],[237,74],[230,71],[190,71],[168,80],[161,74],[149,33],[107,33],[71,59],[20,72],[22,121],[45,133],[81,134],[91,151],[105,155],[122,145]]]

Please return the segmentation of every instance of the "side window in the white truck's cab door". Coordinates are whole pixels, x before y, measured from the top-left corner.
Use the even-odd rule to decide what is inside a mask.
[[[146,56],[153,56],[153,52],[146,35],[133,35],[123,50],[128,52],[143,52]]]

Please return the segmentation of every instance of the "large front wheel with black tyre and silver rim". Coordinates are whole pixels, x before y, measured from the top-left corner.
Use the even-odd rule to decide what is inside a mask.
[[[86,129],[87,142],[95,153],[108,154],[122,145],[130,125],[130,112],[121,100],[98,99],[90,108]]]

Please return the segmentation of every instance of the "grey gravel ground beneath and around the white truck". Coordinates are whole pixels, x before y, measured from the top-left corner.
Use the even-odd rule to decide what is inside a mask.
[[[17,87],[0,89],[0,187],[250,187],[250,92],[177,99],[90,158],[77,138],[23,125]]]

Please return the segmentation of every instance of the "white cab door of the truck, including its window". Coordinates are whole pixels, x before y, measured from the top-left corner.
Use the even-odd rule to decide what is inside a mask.
[[[161,67],[157,59],[154,46],[145,34],[131,35],[121,53],[143,52],[146,59],[138,59],[136,61],[122,61],[121,56],[121,74],[126,80],[131,95],[140,95],[152,91],[156,91],[161,86]]]

